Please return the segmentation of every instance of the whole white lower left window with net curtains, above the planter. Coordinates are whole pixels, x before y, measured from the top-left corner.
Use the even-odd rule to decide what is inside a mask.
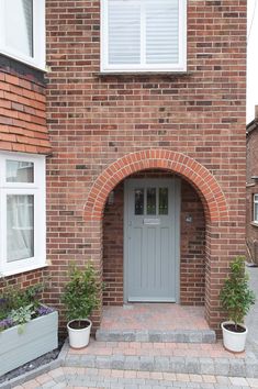
[[[0,274],[45,266],[45,157],[0,154]]]

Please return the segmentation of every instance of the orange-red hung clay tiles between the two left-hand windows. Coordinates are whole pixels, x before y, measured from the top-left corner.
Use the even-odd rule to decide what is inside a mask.
[[[0,67],[0,149],[47,154],[45,86]]]

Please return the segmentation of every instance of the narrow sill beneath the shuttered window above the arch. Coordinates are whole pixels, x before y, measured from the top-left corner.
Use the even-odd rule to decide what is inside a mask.
[[[99,71],[94,73],[97,77],[178,77],[178,76],[191,76],[192,71]]]

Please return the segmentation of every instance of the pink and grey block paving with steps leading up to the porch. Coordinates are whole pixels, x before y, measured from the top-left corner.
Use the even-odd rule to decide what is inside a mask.
[[[251,281],[258,282],[258,269],[251,269],[250,274]],[[43,370],[45,374],[35,374],[34,379],[20,380],[25,382],[10,388],[258,389],[257,304],[247,318],[249,344],[240,354],[228,353],[221,342],[213,343],[212,334],[206,333],[206,324],[201,318],[201,309],[176,307],[180,320],[186,319],[184,333],[178,332],[180,320],[171,324],[171,311],[162,315],[164,336],[160,336],[156,319],[161,307],[157,305],[157,312],[150,312],[147,305],[126,307],[122,315],[119,314],[121,309],[112,308],[105,311],[101,329],[101,336],[105,340],[91,340],[89,346],[80,351],[69,348],[66,343],[61,351],[61,367]],[[144,326],[146,319],[152,326]],[[142,321],[139,326],[138,320]],[[191,321],[197,325],[193,327],[201,332],[201,337],[191,330]],[[141,332],[143,330],[144,333]],[[170,342],[175,330],[175,338],[181,342],[189,340],[190,343]],[[116,331],[123,341],[111,342],[110,337],[117,337]],[[138,341],[132,342],[132,336]]]

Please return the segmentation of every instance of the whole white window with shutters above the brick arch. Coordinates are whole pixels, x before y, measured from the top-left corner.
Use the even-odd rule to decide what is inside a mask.
[[[184,71],[187,0],[102,0],[101,71]]]

